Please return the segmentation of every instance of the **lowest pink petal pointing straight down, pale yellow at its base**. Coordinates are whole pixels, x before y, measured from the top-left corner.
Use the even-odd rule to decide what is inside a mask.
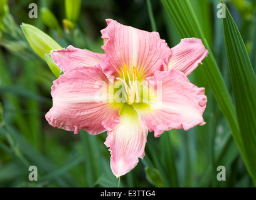
[[[131,106],[125,105],[120,115],[122,123],[108,132],[105,141],[111,154],[110,166],[117,178],[135,168],[138,158],[144,157],[148,131],[142,126],[139,116]]]

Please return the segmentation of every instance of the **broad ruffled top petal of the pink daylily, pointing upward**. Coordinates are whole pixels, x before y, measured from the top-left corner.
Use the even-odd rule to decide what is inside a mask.
[[[106,21],[108,26],[101,31],[106,39],[102,46],[105,57],[100,65],[107,76],[122,76],[120,68],[125,64],[129,74],[134,66],[137,68],[139,80],[166,71],[171,49],[158,32],[142,31],[112,19]]]

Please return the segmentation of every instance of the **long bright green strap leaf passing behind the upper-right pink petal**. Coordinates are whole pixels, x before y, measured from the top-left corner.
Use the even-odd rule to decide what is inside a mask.
[[[242,142],[240,138],[237,117],[235,113],[235,106],[233,105],[232,98],[228,93],[227,86],[221,76],[220,69],[216,60],[211,52],[210,46],[201,31],[200,24],[196,17],[195,12],[188,0],[161,0],[164,8],[168,11],[174,26],[178,30],[181,37],[198,37],[203,40],[209,54],[203,61],[203,66],[199,68],[206,76],[208,86],[220,107],[221,113],[228,121],[230,129],[232,130],[233,138],[235,139],[240,151],[242,151]]]

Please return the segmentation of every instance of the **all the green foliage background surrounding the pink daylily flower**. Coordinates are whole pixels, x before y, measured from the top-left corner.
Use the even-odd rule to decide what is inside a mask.
[[[31,3],[38,6],[38,18],[28,16]],[[146,156],[121,178],[121,186],[256,186],[256,1],[225,1],[231,12],[225,19],[216,16],[219,3],[0,0],[0,186],[118,186],[104,145],[107,133],[74,135],[45,120],[52,81],[60,73],[48,53],[70,44],[104,53],[100,30],[106,18],[158,31],[169,47],[198,37],[210,51],[189,76],[206,88],[206,125],[166,131],[160,138],[149,133]],[[31,36],[31,29],[38,34]],[[46,38],[39,29],[53,40],[44,48],[35,46]],[[38,181],[29,181],[29,166],[38,168]],[[225,166],[226,181],[216,179],[218,166]]]

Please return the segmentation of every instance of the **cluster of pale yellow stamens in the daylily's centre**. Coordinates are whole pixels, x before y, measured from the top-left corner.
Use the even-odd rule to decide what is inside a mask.
[[[137,68],[135,66],[132,68],[131,76],[127,70],[126,64],[124,64],[124,68],[120,68],[120,69],[121,69],[123,78],[116,78],[116,79],[119,81],[122,81],[122,83],[124,84],[124,89],[122,93],[124,94],[127,104],[131,105],[134,102],[139,103],[140,99],[139,99],[139,91],[137,86]]]

